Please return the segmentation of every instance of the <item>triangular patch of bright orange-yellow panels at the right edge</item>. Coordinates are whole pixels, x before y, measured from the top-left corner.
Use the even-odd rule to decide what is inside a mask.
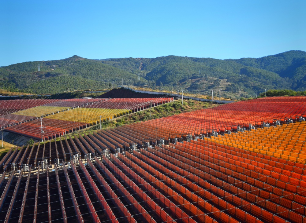
[[[306,122],[293,123],[244,133],[219,136],[219,144],[237,147],[293,162],[306,163]]]

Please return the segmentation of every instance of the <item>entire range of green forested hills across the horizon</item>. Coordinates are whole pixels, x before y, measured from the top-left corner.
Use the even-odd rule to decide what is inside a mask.
[[[180,88],[195,93],[221,88],[230,95],[241,90],[243,97],[265,89],[306,90],[306,52],[291,50],[235,60],[179,56],[90,60],[73,56],[0,67],[0,88],[31,93],[102,89],[113,82],[121,85],[122,79],[124,85],[164,90],[176,90],[179,83]]]

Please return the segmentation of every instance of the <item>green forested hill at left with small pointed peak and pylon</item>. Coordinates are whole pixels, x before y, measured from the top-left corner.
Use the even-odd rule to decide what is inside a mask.
[[[38,71],[38,64],[40,71]],[[0,68],[0,88],[31,93],[107,88],[109,83],[144,85],[147,80],[120,68],[78,56],[64,60],[34,61]]]

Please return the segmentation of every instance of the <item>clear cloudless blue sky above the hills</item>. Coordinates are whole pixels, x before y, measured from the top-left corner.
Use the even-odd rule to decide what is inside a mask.
[[[306,1],[0,1],[0,66],[306,51]]]

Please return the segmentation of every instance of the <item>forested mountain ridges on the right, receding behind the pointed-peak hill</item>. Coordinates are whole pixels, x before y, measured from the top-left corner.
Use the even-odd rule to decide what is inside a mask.
[[[149,84],[159,86],[162,83],[163,88],[175,89],[179,82],[189,91],[220,87],[233,92],[242,90],[249,95],[265,89],[306,90],[306,52],[297,50],[238,60],[167,56],[101,61],[134,74],[140,73]]]

